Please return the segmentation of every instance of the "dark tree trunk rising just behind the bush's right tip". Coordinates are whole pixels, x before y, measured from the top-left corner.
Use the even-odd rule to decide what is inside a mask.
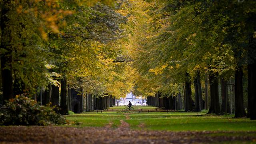
[[[68,114],[68,105],[67,105],[67,79],[64,78],[60,80],[61,89],[60,89],[60,114]]]

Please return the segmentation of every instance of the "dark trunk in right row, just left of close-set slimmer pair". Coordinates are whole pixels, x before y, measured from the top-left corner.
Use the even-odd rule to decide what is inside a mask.
[[[192,111],[192,98],[191,98],[192,92],[191,92],[191,82],[189,79],[189,74],[186,73],[186,82],[185,82],[185,111]]]

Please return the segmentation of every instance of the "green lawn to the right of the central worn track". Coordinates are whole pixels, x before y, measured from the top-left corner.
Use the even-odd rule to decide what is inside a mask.
[[[170,131],[256,131],[256,121],[232,116],[212,116],[196,112],[152,112],[130,114],[125,120],[132,129]]]

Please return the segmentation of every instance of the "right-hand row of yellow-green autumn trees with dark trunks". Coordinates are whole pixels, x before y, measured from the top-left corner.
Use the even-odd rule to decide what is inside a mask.
[[[209,104],[208,113],[223,114],[230,111],[227,87],[234,83],[235,117],[246,116],[246,107],[247,116],[256,119],[255,1],[131,3],[125,8],[135,17],[129,42],[134,94],[158,97],[149,102],[172,109],[183,94],[186,111]]]

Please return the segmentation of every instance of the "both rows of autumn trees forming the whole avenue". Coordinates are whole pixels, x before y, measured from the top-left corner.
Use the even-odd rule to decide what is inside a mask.
[[[149,105],[224,114],[234,83],[235,117],[256,119],[254,0],[0,2],[3,104],[26,92],[67,114],[132,90]]]

